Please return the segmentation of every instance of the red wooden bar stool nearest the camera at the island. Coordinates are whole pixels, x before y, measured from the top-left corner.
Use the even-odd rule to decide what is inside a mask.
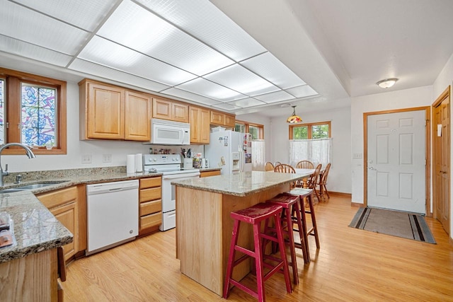
[[[280,224],[280,214],[282,213],[282,207],[275,204],[256,204],[253,207],[247,209],[241,209],[239,211],[231,212],[231,218],[234,219],[234,228],[231,237],[231,245],[229,250],[228,265],[226,266],[225,274],[225,284],[224,284],[224,298],[228,296],[229,285],[239,287],[247,294],[258,298],[258,301],[265,301],[264,294],[264,281],[269,279],[275,272],[283,272],[285,275],[286,289],[288,293],[292,292],[291,281],[289,280],[289,269],[287,265],[287,259],[285,254],[285,243],[283,240],[282,226]],[[261,222],[265,221],[265,228],[268,226],[269,219],[273,217],[275,221],[275,229],[277,237],[270,236],[266,233],[260,231]],[[243,248],[238,243],[238,234],[240,223],[250,223],[253,225],[253,240],[254,240],[254,250],[248,250]],[[277,257],[272,257],[263,254],[263,240],[271,240],[278,243],[280,248],[280,259]],[[234,260],[236,250],[243,253],[244,255],[238,260]],[[249,289],[239,281],[234,280],[231,276],[233,274],[233,269],[236,265],[246,260],[248,257],[255,258],[256,266],[256,283],[257,283],[257,292]],[[264,262],[265,259],[272,260],[277,262],[277,265],[271,265],[267,262]],[[264,274],[263,267],[267,267],[270,271]]]

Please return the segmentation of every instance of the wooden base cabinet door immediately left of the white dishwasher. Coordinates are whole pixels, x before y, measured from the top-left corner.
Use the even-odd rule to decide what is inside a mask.
[[[49,210],[74,235],[74,240],[71,243],[63,245],[64,260],[67,261],[78,251],[79,240],[76,238],[76,233],[79,229],[79,213],[77,212],[76,201]]]

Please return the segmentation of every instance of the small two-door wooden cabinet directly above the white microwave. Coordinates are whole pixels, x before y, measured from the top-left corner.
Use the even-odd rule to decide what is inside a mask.
[[[153,98],[153,117],[175,122],[189,122],[189,106],[164,98]]]

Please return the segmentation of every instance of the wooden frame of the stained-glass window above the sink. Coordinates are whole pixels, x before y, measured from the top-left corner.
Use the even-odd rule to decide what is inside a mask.
[[[37,76],[21,71],[4,69],[0,67],[0,78],[5,80],[4,91],[4,123],[5,144],[11,142],[21,142],[22,129],[13,127],[14,124],[21,125],[22,111],[22,83],[29,83],[38,86],[56,88],[57,111],[56,116],[56,140],[57,146],[47,150],[45,146],[33,146],[33,153],[42,155],[67,154],[67,83],[57,79]],[[25,154],[25,150],[20,147],[11,146],[4,149],[2,154]]]

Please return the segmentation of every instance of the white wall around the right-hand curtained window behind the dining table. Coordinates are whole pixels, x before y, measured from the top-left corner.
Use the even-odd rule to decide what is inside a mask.
[[[350,108],[339,108],[319,112],[304,112],[299,108],[297,113],[304,122],[331,121],[333,138],[333,158],[331,171],[328,176],[328,190],[332,192],[351,192],[351,119]],[[269,161],[289,162],[289,126],[287,116],[271,119],[272,157]]]

